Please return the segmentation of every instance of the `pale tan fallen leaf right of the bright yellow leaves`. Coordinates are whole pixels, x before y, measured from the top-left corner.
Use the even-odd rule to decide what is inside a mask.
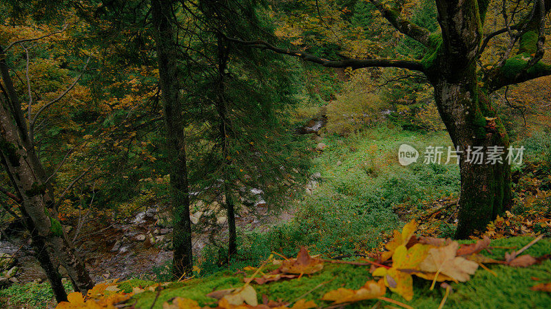
[[[459,244],[452,242],[446,247],[431,248],[426,259],[419,264],[421,271],[441,273],[455,281],[466,282],[477,271],[478,264],[455,256]]]

